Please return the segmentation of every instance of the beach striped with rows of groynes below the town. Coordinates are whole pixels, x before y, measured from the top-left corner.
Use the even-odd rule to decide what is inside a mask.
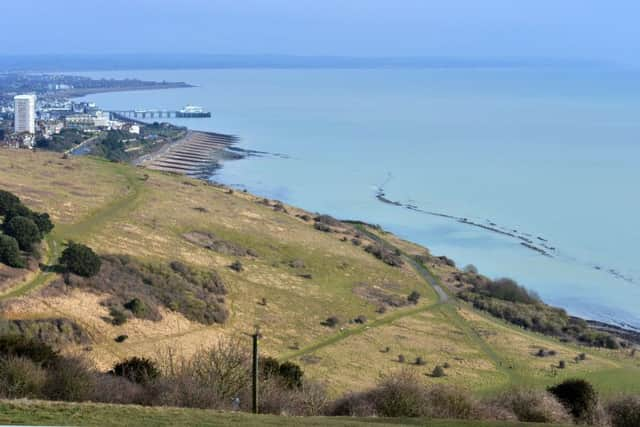
[[[142,159],[140,165],[153,170],[203,177],[215,170],[220,160],[232,156],[227,148],[235,141],[232,135],[189,131],[183,139]]]

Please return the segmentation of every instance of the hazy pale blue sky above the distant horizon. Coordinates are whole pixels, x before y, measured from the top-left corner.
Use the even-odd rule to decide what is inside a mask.
[[[0,53],[570,57],[640,63],[638,0],[2,0]],[[19,34],[19,36],[18,36]]]

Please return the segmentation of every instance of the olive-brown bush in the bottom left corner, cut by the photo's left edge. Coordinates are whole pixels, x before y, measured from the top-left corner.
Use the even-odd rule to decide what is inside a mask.
[[[0,396],[3,398],[41,397],[46,380],[46,371],[30,359],[0,358]]]

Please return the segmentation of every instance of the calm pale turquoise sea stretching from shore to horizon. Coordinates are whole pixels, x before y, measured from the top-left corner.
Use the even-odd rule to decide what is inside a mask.
[[[216,180],[381,224],[554,305],[640,328],[640,74],[624,70],[158,70],[84,73],[198,87],[107,93],[106,109],[201,105],[172,120],[285,154]],[[467,218],[523,240],[428,215]],[[495,224],[495,225],[491,225]],[[517,230],[513,232],[513,230]],[[545,239],[541,240],[538,237]],[[525,242],[526,243],[526,242]],[[610,271],[611,270],[611,271]]]

